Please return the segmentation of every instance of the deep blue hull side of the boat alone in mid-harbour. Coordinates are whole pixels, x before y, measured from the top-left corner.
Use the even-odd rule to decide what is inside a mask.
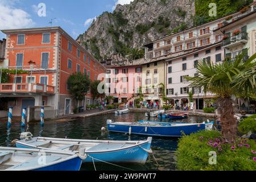
[[[130,129],[131,127],[131,129]],[[137,135],[147,135],[156,137],[181,137],[183,134],[189,135],[197,131],[204,130],[205,124],[189,126],[150,126],[150,125],[119,125],[108,123],[108,130],[117,133],[129,133]]]

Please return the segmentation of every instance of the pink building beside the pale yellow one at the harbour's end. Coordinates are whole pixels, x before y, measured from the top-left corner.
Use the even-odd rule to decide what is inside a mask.
[[[106,95],[114,96],[113,103],[134,101],[142,86],[141,77],[141,65],[106,67]]]

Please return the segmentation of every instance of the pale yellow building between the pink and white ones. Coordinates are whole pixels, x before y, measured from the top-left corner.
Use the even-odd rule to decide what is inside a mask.
[[[151,59],[142,65],[142,93],[146,101],[160,101],[163,105],[165,94],[167,63],[164,60]]]

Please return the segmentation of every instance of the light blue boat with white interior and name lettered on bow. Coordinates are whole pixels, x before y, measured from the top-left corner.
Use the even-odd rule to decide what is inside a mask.
[[[20,148],[40,148],[56,151],[79,151],[85,149],[88,156],[83,163],[146,163],[151,151],[152,138],[137,141],[84,140],[45,137],[28,137],[16,142]]]

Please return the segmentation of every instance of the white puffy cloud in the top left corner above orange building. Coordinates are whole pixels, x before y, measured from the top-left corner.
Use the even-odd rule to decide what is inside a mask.
[[[31,16],[22,9],[14,7],[14,1],[0,1],[0,29],[25,28],[34,26]]]

